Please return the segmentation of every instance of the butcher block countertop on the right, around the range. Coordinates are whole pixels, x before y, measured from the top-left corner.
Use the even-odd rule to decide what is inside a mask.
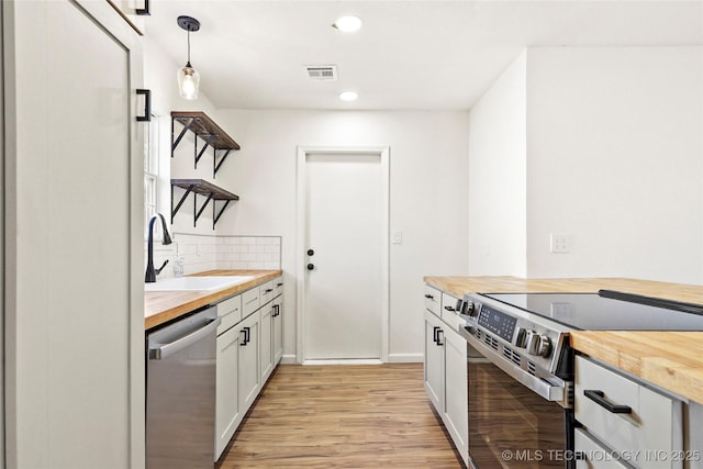
[[[617,290],[703,304],[703,287],[623,278],[425,277],[453,294]],[[615,368],[703,403],[703,332],[573,331],[571,346]]]

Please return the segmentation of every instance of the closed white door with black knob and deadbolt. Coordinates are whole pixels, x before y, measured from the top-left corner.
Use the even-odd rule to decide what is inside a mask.
[[[383,358],[388,288],[384,165],[381,152],[304,156],[305,360]]]

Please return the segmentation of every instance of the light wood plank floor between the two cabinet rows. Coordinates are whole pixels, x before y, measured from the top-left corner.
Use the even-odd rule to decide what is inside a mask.
[[[422,364],[281,365],[215,469],[460,468]]]

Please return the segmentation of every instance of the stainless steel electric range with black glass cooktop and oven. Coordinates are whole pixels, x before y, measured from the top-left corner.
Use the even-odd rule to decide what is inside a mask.
[[[605,290],[472,294],[458,309],[477,469],[576,466],[570,331],[703,330],[699,305]]]

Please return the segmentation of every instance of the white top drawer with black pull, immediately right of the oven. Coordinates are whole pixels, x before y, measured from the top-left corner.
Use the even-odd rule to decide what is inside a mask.
[[[616,451],[683,449],[682,404],[587,358],[576,357],[576,418],[588,433]],[[591,398],[587,395],[591,395]],[[601,398],[601,403],[595,402]],[[622,405],[612,409],[612,405]],[[607,409],[607,407],[611,409]],[[682,467],[670,459],[647,461],[647,468]]]

